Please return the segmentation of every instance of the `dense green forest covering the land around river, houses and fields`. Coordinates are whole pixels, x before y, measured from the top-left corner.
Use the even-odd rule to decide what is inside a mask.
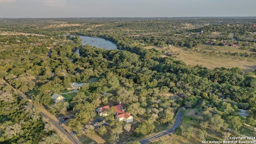
[[[27,19],[17,24],[18,21],[0,22],[1,32],[9,33],[0,35],[0,143],[47,144],[50,139],[55,139],[56,144],[61,143],[58,133],[39,115],[34,105],[45,106],[54,115],[73,112],[75,117],[67,125],[77,132],[83,143],[89,142],[84,139],[93,139],[92,135],[98,135],[104,143],[121,144],[134,140],[136,143],[172,126],[179,110],[186,113],[184,107],[200,110],[196,112],[200,113],[196,118],[184,116],[185,123],[175,132],[186,139],[194,132],[198,135],[194,142],[206,138],[222,140],[216,132],[223,136],[239,136],[247,132],[248,126],[252,131],[250,134],[255,136],[255,72],[243,72],[239,67],[209,69],[202,65],[187,65],[182,60],[163,57],[160,50],[145,48],[174,45],[190,49],[211,39],[218,45],[223,40],[232,42],[229,35],[235,32],[238,43],[248,44],[253,50],[256,35],[252,33],[256,28],[251,25],[255,19],[239,19],[239,26],[237,19],[228,18],[222,19],[223,22],[214,18]],[[46,24],[48,21],[51,23]],[[40,24],[35,26],[34,23]],[[58,26],[63,23],[67,26]],[[191,26],[186,25],[188,23]],[[30,34],[16,35],[18,32]],[[222,32],[222,35],[213,37],[212,32]],[[192,36],[187,36],[188,33]],[[82,46],[79,36],[63,34],[105,38],[120,50]],[[74,54],[77,48],[80,48],[80,56]],[[39,77],[36,80],[30,78],[34,76]],[[90,82],[92,79],[96,81]],[[85,82],[85,85],[71,99],[52,102],[52,94],[67,90],[71,82]],[[33,104],[20,100],[12,88],[26,94]],[[92,127],[92,121],[98,118],[95,109],[120,102],[134,117],[134,122],[116,121],[112,116],[114,111],[110,109],[109,115],[104,117],[108,126]],[[247,111],[247,118],[239,115],[240,110]],[[195,120],[200,130],[186,124],[186,120]],[[229,129],[233,131],[230,133]],[[10,130],[12,133],[8,133]]]

